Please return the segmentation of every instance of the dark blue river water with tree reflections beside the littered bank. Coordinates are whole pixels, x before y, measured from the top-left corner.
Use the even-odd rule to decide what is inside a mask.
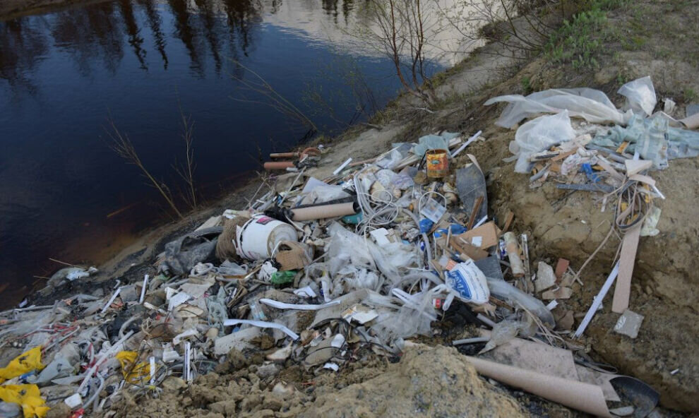
[[[191,115],[195,179],[213,199],[261,167],[258,150],[308,131],[239,82],[251,71],[322,133],[386,104],[390,62],[346,34],[362,3],[117,0],[0,21],[0,306],[61,267],[49,258],[99,263],[169,219],[109,149],[110,117],[177,195],[180,109]]]

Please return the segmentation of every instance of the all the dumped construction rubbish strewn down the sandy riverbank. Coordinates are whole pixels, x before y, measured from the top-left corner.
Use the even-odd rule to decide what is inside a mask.
[[[653,199],[664,198],[647,173],[699,154],[695,132],[641,113],[655,107],[648,82],[622,89],[628,112],[590,89],[494,100],[512,103],[502,126],[555,113],[518,129],[516,171],[533,170],[534,185],[555,179],[604,193],[602,208],[616,205],[620,261],[577,328],[573,311],[557,305],[579,291],[582,268],[530,259],[531,237],[513,232],[512,213],[489,215],[482,169],[461,155],[480,133],[394,144],[322,179],[311,167],[325,150],[308,148],[277,155],[301,163],[268,165],[289,172],[248,208],[169,242],[142,281],[1,313],[0,415],[44,417],[52,408],[112,416],[124,398],[185,388],[234,352],[332,374],[357,357],[399,358],[410,338],[434,337],[433,323],[460,309],[480,330],[453,345],[478,347],[467,359],[479,374],[590,414],[645,417],[657,393],[593,362],[576,339],[617,276],[613,309],[623,316],[615,330],[635,338],[643,320],[627,310],[635,247],[657,225]],[[570,116],[589,124],[573,129]],[[47,289],[89,282],[92,273],[59,270]]]

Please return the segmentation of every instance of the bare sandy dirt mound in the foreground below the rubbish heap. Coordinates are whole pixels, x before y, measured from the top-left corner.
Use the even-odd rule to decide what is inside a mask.
[[[416,347],[400,362],[366,356],[335,376],[297,365],[261,366],[240,353],[229,373],[211,373],[189,388],[124,405],[118,417],[527,417],[506,390],[479,378],[453,348]],[[297,373],[290,374],[289,370]],[[260,376],[263,376],[261,378]],[[300,389],[299,389],[300,388]],[[390,390],[387,390],[390,388]]]

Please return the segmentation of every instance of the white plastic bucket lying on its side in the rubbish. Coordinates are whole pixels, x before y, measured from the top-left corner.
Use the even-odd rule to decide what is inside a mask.
[[[296,229],[265,215],[254,215],[236,230],[236,251],[248,260],[270,258],[281,241],[299,241]]]

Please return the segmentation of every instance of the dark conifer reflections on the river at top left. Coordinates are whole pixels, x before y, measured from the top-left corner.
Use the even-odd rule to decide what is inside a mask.
[[[210,54],[219,73],[228,56],[239,59],[249,54],[254,32],[263,21],[263,5],[253,0],[165,2],[167,6],[157,0],[117,0],[0,22],[0,78],[15,87],[15,94],[35,94],[33,70],[51,47],[68,52],[85,77],[101,69],[116,73],[125,51],[133,54],[143,71],[154,64],[167,70],[170,36],[184,44],[191,71],[203,76],[204,57]],[[272,1],[269,12],[275,13],[280,4]],[[163,7],[172,12],[172,21],[162,14]],[[160,57],[160,63],[149,51]]]

